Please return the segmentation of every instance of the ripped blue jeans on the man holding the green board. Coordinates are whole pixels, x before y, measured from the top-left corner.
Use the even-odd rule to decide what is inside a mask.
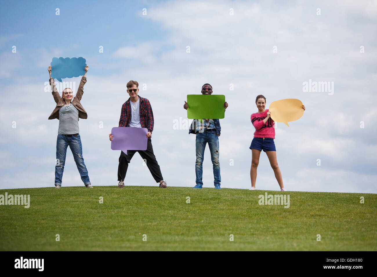
[[[216,130],[205,131],[203,133],[196,133],[196,163],[195,174],[196,184],[203,185],[203,159],[205,145],[208,143],[210,147],[211,160],[213,165],[213,177],[215,179],[214,184],[220,185],[220,162],[219,162],[219,136],[216,134]]]

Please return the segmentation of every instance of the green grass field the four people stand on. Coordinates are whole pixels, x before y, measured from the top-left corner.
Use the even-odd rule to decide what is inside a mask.
[[[30,208],[0,206],[2,251],[377,250],[377,194],[141,186],[6,192],[30,194]],[[289,194],[290,207],[259,205],[265,192]]]

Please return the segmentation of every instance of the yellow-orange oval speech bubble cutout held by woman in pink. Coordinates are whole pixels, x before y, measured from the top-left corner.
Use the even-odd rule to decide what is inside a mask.
[[[268,111],[271,112],[273,121],[284,122],[288,127],[288,122],[295,121],[304,114],[302,102],[294,98],[273,101]]]

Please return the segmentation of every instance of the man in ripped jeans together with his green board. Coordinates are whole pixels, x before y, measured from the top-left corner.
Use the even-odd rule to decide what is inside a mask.
[[[219,136],[221,126],[219,118],[224,118],[228,103],[225,102],[224,95],[211,95],[212,92],[212,86],[210,84],[204,84],[202,86],[202,95],[187,95],[187,102],[190,106],[186,101],[183,105],[183,108],[187,110],[187,117],[194,119],[190,125],[189,134],[196,134],[196,186],[194,188],[203,187],[203,159],[205,145],[207,143],[211,152],[215,188],[221,188],[219,162]]]

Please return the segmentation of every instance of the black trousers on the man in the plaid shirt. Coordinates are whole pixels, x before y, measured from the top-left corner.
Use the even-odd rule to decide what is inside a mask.
[[[130,163],[133,155],[135,155],[136,152],[140,154],[141,158],[146,159],[147,167],[156,183],[164,180],[162,178],[160,166],[156,161],[156,156],[155,154],[153,154],[152,141],[151,139],[148,139],[147,150],[127,150],[128,155],[121,151],[118,165],[118,181],[124,181],[124,178],[126,178],[128,164]]]

